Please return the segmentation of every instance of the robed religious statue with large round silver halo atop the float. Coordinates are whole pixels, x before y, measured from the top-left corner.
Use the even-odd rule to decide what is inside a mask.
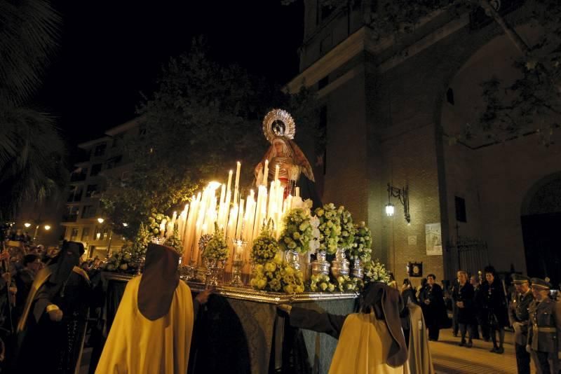
[[[294,196],[296,188],[299,188],[299,195],[303,200],[311,199],[314,207],[321,206],[310,162],[299,146],[292,141],[296,132],[292,116],[282,109],[269,111],[263,120],[263,132],[271,146],[255,167],[257,186],[265,180],[273,181],[278,165],[278,180],[285,188],[285,198],[289,194]]]

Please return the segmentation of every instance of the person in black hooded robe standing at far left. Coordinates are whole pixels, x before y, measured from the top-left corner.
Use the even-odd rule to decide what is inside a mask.
[[[67,242],[57,263],[36,276],[18,324],[15,373],[75,373],[86,333],[90,281],[79,268],[83,245]],[[51,321],[48,305],[62,310],[62,321]]]

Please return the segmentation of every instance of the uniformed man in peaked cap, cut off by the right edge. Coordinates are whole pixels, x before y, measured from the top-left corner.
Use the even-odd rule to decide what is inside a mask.
[[[546,278],[547,279],[547,278]],[[561,303],[549,298],[551,284],[532,278],[534,300],[529,307],[529,328],[526,350],[532,355],[539,374],[557,374],[559,371],[558,336],[561,332]]]

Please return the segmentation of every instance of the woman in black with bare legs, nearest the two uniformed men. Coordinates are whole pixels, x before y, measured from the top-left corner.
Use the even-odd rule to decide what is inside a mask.
[[[487,317],[493,349],[491,352],[503,353],[504,328],[508,326],[508,309],[506,295],[495,269],[492,266],[485,268],[487,282],[481,286],[484,316]],[[496,344],[496,333],[499,333],[499,345]]]

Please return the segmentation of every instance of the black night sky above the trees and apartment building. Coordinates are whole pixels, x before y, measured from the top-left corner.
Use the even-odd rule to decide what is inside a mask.
[[[151,94],[162,64],[196,36],[206,36],[222,64],[287,83],[298,73],[302,3],[53,1],[63,19],[61,46],[36,104],[57,118],[72,162],[76,144],[135,117],[140,92]]]

